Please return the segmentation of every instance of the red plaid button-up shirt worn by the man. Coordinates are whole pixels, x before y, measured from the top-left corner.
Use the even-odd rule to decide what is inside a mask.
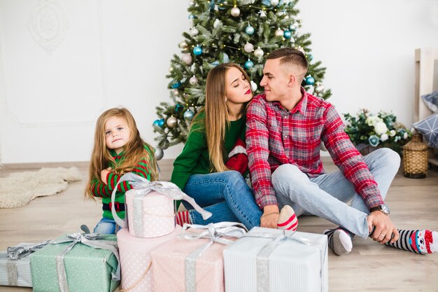
[[[334,164],[350,181],[368,208],[383,204],[377,183],[362,155],[344,132],[332,104],[306,93],[291,111],[264,94],[250,102],[246,113],[246,148],[255,200],[260,209],[277,204],[271,173],[283,164],[296,165],[307,176],[324,174],[320,141]]]

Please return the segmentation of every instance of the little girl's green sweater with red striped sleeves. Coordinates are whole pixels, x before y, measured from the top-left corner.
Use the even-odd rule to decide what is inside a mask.
[[[143,145],[143,147],[150,155],[153,155],[153,151],[151,151],[148,146]],[[123,160],[123,158],[125,158],[124,151],[117,154],[113,149],[110,149],[110,153],[113,156],[116,165],[118,165]],[[143,176],[143,178],[150,180],[149,161],[150,159],[148,158],[141,158],[141,160],[134,166],[134,169],[132,169],[132,173],[138,174],[139,176]],[[108,165],[108,167],[115,168],[115,165],[111,163],[110,165]],[[110,172],[106,176],[106,184],[102,183],[100,179],[94,178],[92,180],[92,195],[94,197],[101,197],[102,203],[109,204],[111,202],[111,194],[113,193],[113,190],[121,177],[122,175]],[[115,202],[125,204],[125,192],[131,189],[132,186],[127,181],[123,181],[122,183],[120,183],[117,188],[117,192],[115,193]],[[125,218],[125,211],[118,211],[117,214],[120,218]],[[113,214],[111,214],[111,211],[108,210],[104,210],[103,216],[113,219]]]

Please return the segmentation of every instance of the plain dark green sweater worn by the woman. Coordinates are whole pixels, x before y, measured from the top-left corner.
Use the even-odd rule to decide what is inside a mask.
[[[192,174],[209,174],[213,168],[209,158],[205,135],[205,113],[200,113],[193,120],[187,142],[183,152],[174,162],[171,182],[184,190],[185,184]],[[245,141],[246,116],[243,115],[239,120],[234,120],[225,129],[225,152],[228,155],[232,151],[237,139]],[[224,161],[225,162],[225,161]]]

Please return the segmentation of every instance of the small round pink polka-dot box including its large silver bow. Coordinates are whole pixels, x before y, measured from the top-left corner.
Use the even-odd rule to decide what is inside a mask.
[[[127,228],[135,237],[153,238],[168,235],[175,229],[174,200],[185,200],[202,214],[209,218],[211,213],[199,207],[195,200],[168,181],[148,181],[143,177],[127,173],[123,175],[114,188],[111,196],[112,205],[115,202],[115,190],[120,183],[129,181],[133,187],[125,193],[127,222],[122,220],[115,209],[112,209],[114,220],[120,227]]]

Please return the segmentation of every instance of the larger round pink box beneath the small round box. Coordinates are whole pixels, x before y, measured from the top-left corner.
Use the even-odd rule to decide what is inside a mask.
[[[129,292],[148,292],[153,290],[153,273],[150,252],[158,246],[177,237],[183,228],[177,225],[169,235],[155,238],[139,238],[129,234],[126,228],[117,233],[122,272],[121,289]]]

